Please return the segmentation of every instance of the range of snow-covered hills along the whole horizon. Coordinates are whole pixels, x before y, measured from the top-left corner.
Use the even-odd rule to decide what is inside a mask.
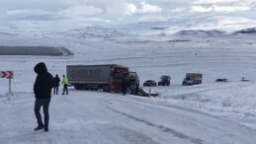
[[[72,37],[76,39],[101,38],[112,41],[130,40],[175,40],[182,37],[236,36],[255,34],[256,21],[227,16],[201,16],[173,19],[166,22],[143,22],[119,26],[90,26],[65,31],[12,30],[0,28],[3,41],[26,37]],[[189,38],[188,38],[189,37]],[[0,39],[0,40],[1,40]],[[30,42],[31,43],[31,42]]]

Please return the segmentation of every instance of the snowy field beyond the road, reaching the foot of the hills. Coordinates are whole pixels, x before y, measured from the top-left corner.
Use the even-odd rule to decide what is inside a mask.
[[[15,97],[11,96],[11,99],[19,95],[24,97],[24,94],[31,95],[36,78],[33,68],[38,62],[45,62],[53,75],[64,74],[65,66],[70,64],[115,63],[136,71],[140,85],[147,79],[159,81],[161,75],[172,77],[170,87],[151,88],[160,94],[158,98],[135,97],[137,100],[202,110],[256,129],[255,35],[159,36],[152,33],[139,36],[99,30],[37,32],[34,36],[30,33],[25,36],[0,34],[1,45],[64,46],[74,53],[73,56],[60,57],[1,56],[0,70],[15,72],[12,80]],[[95,33],[88,34],[88,31]],[[187,72],[203,73],[203,84],[183,87],[182,80]],[[241,82],[242,77],[249,82]],[[229,82],[214,82],[218,78],[227,78]],[[7,95],[8,80],[0,79],[0,88],[2,105],[6,102],[3,100],[10,97]],[[149,88],[144,89],[148,91]],[[106,97],[108,95],[111,94],[106,94]],[[192,143],[197,142],[194,139]]]

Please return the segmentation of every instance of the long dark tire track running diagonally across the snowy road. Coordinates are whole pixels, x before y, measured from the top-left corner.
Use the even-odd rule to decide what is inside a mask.
[[[132,116],[132,115],[126,113],[126,112],[123,112],[123,111],[120,111],[120,110],[117,110],[117,109],[114,109],[114,108],[110,108],[110,107],[107,107],[107,108],[109,108],[110,110],[112,110],[112,111],[114,111],[114,112],[116,112],[116,113],[125,115],[125,116],[127,116],[128,118],[131,118],[131,119],[133,119],[133,120],[135,120],[135,121],[145,123],[145,124],[147,124],[147,125],[149,125],[149,126],[152,126],[152,127],[157,127],[157,128],[160,129],[161,131],[170,133],[170,134],[172,134],[172,135],[175,136],[175,137],[178,137],[178,138],[181,138],[181,139],[187,139],[187,140],[189,140],[190,142],[192,142],[193,144],[205,144],[204,141],[201,140],[201,139],[199,139],[199,138],[194,138],[194,137],[188,136],[188,135],[186,135],[186,134],[184,134],[184,133],[175,131],[174,129],[165,127],[165,126],[163,126],[163,125],[157,125],[157,124],[151,123],[151,122],[149,122],[149,121],[146,121],[146,120],[143,120],[143,119],[141,119],[141,118]]]

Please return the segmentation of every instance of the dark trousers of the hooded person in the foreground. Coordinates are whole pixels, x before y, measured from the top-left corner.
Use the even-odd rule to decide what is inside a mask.
[[[48,106],[49,106],[50,99],[37,99],[35,102],[35,114],[38,120],[39,125],[43,125],[42,116],[40,113],[40,109],[43,107],[43,115],[44,115],[44,126],[48,127]]]

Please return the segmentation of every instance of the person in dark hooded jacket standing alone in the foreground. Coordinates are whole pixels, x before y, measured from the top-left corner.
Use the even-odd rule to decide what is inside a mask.
[[[46,132],[48,131],[48,107],[51,97],[51,89],[53,87],[53,77],[47,72],[46,65],[43,62],[38,63],[34,67],[34,71],[38,74],[34,84],[34,93],[36,97],[34,110],[38,120],[38,127],[36,127],[34,130],[41,130],[44,128],[44,131]],[[42,107],[44,124],[40,113]]]

